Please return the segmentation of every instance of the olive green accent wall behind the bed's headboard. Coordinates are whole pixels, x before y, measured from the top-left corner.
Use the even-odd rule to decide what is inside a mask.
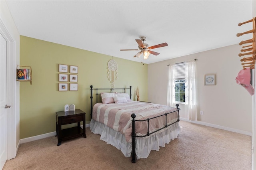
[[[56,130],[55,112],[74,104],[86,112],[90,123],[90,85],[110,88],[108,61],[118,64],[116,88],[140,89],[140,100],[148,100],[148,65],[66,45],[20,36],[20,65],[32,67],[32,85],[20,82],[20,139]],[[78,66],[78,91],[58,91],[58,65]],[[68,82],[70,83],[70,82]],[[69,86],[68,86],[69,87]]]

